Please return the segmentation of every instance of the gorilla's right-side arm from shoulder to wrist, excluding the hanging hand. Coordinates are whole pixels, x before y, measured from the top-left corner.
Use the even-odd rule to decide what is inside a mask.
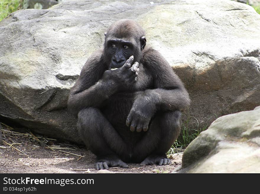
[[[144,61],[154,79],[154,88],[147,89],[136,100],[148,98],[157,110],[184,110],[189,107],[190,99],[181,79],[174,73],[168,62],[156,50],[144,52]]]

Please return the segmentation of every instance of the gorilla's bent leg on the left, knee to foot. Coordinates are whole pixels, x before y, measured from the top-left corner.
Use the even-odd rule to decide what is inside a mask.
[[[118,157],[127,153],[127,146],[99,109],[79,111],[77,128],[84,143],[97,156],[96,169],[128,167]]]

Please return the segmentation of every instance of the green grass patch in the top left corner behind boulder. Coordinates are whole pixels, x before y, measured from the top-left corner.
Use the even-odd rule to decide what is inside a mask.
[[[22,0],[1,0],[0,1],[0,21],[22,7]]]

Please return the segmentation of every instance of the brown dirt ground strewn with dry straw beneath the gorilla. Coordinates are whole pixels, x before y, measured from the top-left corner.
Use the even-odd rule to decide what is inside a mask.
[[[13,129],[1,123],[0,173],[97,173],[95,155],[84,146]],[[170,156],[172,164],[109,168],[114,173],[170,173],[181,165],[182,153]]]

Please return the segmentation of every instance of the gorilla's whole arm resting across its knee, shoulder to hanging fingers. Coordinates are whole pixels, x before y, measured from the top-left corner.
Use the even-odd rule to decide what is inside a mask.
[[[131,131],[147,131],[152,116],[157,111],[184,110],[190,99],[182,81],[168,62],[155,50],[144,52],[142,63],[154,78],[154,88],[138,92],[126,125]]]

